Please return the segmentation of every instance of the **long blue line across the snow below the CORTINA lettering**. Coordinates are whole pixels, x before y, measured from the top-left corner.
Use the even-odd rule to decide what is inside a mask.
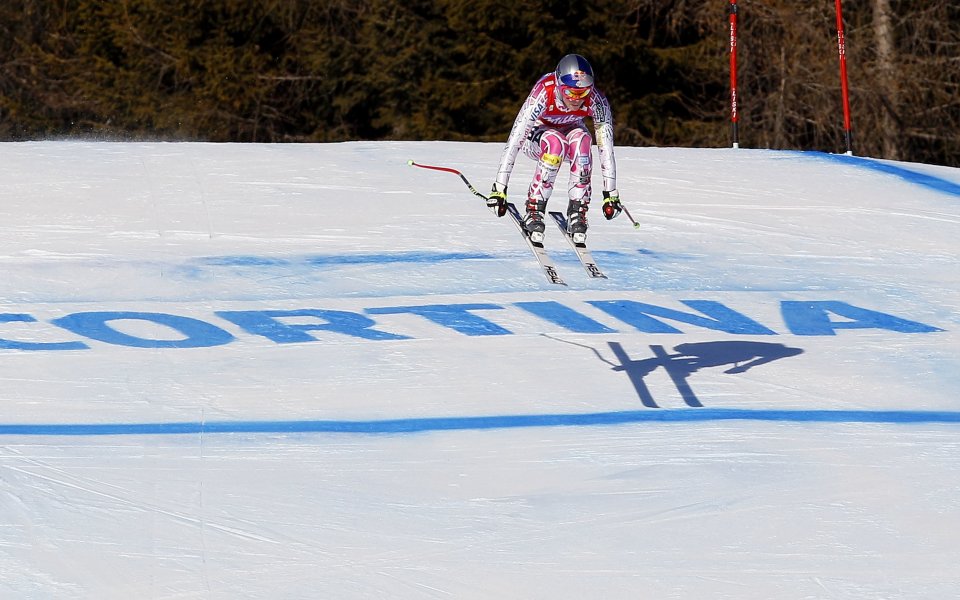
[[[583,414],[427,417],[379,421],[214,421],[184,423],[6,424],[0,435],[99,436],[197,433],[420,433],[427,431],[585,427],[630,423],[773,421],[792,423],[960,423],[960,412],[869,410],[655,409]]]

